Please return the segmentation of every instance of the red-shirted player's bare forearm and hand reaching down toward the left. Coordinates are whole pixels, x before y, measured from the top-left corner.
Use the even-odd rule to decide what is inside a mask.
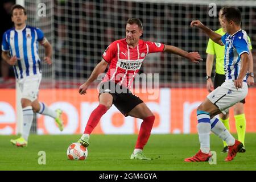
[[[88,78],[88,80],[82,84],[80,87],[79,87],[79,93],[81,95],[85,94],[86,93],[86,90],[88,89],[88,87],[90,86],[90,84],[96,80],[96,78],[98,77],[98,75],[100,75],[100,73],[103,73],[106,68],[108,67],[108,64],[104,59],[102,59],[100,61],[100,63],[98,63],[96,65],[96,67],[93,69],[93,72],[92,74],[90,75],[90,77]]]

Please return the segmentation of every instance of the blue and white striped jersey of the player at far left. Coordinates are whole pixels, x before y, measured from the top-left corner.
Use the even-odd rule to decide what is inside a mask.
[[[10,51],[18,59],[13,66],[16,78],[41,74],[38,42],[43,38],[42,30],[30,26],[23,30],[11,28],[3,34],[2,51]]]

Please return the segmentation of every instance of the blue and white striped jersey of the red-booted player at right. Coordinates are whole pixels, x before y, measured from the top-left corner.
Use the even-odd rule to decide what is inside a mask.
[[[249,43],[246,31],[239,30],[233,35],[225,34],[221,37],[225,45],[224,68],[226,80],[236,80],[241,71],[241,55],[249,54]],[[246,80],[246,77],[243,78]]]

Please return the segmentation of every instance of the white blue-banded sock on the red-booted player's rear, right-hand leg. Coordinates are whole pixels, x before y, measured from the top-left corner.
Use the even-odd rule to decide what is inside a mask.
[[[212,126],[212,132],[220,137],[222,140],[228,144],[228,146],[233,146],[236,139],[229,133],[222,122],[219,122],[218,118],[213,117],[210,119],[210,124]]]

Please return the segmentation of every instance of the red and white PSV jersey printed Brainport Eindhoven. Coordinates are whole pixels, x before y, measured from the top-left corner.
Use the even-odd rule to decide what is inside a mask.
[[[114,81],[130,88],[136,73],[148,53],[163,52],[164,44],[139,40],[138,46],[131,48],[126,39],[116,40],[106,48],[103,59],[110,64],[102,82]]]

